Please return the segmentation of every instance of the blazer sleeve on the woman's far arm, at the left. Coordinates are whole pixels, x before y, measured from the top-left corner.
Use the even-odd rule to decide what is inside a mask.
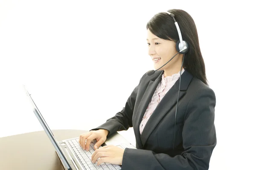
[[[143,75],[143,77],[144,76],[145,74]],[[143,79],[143,77],[141,77],[140,82]],[[116,113],[115,116],[108,119],[104,124],[91,130],[106,129],[109,131],[108,136],[111,136],[113,133],[116,133],[117,131],[128,130],[129,127],[132,127],[132,115],[134,111],[134,105],[137,97],[137,91],[140,86],[140,82],[139,85],[137,85],[132,91],[122,111]]]

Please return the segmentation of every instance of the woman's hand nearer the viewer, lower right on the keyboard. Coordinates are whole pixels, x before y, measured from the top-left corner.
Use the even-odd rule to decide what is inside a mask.
[[[98,160],[98,165],[103,162],[122,165],[122,158],[125,150],[114,145],[104,146],[96,149],[92,155],[93,164]]]

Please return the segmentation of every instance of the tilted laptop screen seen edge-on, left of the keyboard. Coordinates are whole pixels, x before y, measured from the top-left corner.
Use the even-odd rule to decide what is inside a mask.
[[[55,150],[58,153],[62,163],[64,164],[64,167],[67,167],[68,170],[72,170],[70,165],[67,162],[67,159],[65,158],[64,154],[62,153],[57,140],[55,139],[54,135],[52,134],[52,131],[48,127],[43,116],[41,115],[40,111],[38,110],[37,106],[35,105],[35,102],[33,101],[32,97],[30,96],[29,92],[26,90],[25,87],[24,87],[24,89],[26,91],[27,96],[29,97],[30,102],[32,103],[35,116],[38,118],[39,122],[41,123],[42,127],[44,128],[44,131],[46,132],[46,134],[49,137],[50,141],[52,142],[53,146],[55,147]]]

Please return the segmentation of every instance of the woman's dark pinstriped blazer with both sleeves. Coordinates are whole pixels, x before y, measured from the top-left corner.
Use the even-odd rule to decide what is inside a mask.
[[[140,122],[163,72],[144,74],[122,111],[92,130],[106,129],[110,136],[134,127],[137,149],[125,149],[122,170],[208,170],[216,145],[215,93],[188,71],[181,75],[176,122],[180,79],[157,105],[140,135]]]

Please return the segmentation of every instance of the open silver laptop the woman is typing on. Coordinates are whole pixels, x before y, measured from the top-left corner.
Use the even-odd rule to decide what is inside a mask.
[[[94,152],[93,146],[96,143],[95,139],[90,143],[90,149],[88,151],[84,150],[80,146],[79,137],[57,141],[46,121],[44,120],[43,116],[41,115],[40,111],[38,110],[37,106],[35,105],[31,94],[29,94],[25,86],[23,87],[26,91],[26,95],[29,97],[29,100],[32,104],[35,116],[38,118],[38,121],[41,123],[44,131],[46,132],[53,146],[55,147],[56,153],[61,160],[61,163],[65,170],[121,170],[120,165],[102,163],[97,166],[97,162],[93,164],[90,161],[91,156]],[[125,149],[126,147],[136,149],[136,147],[130,144],[130,142],[128,142],[119,133],[115,133],[108,137],[108,139],[102,144],[102,146],[112,144],[123,149]]]

